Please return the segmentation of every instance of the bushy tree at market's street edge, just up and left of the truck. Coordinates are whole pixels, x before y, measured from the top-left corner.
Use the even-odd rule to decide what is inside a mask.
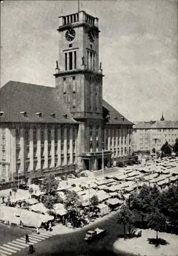
[[[68,221],[70,221],[74,227],[80,226],[81,224],[81,206],[82,203],[78,194],[73,190],[67,191],[65,195],[64,208],[68,211]]]

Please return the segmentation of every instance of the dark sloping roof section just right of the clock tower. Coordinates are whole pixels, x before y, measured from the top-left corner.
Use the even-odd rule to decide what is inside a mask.
[[[131,121],[122,116],[117,110],[113,108],[107,101],[103,99],[103,108],[108,112],[108,121],[109,124],[130,124],[133,125]]]

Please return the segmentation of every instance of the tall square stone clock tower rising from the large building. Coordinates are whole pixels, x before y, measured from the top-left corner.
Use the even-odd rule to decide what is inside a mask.
[[[56,89],[68,111],[79,122],[78,166],[80,166],[82,154],[101,150],[101,144],[95,139],[98,133],[97,141],[101,141],[103,123],[103,74],[98,60],[100,32],[98,18],[85,11],[60,16],[58,31],[59,59],[55,72]],[[91,134],[92,143],[89,139]],[[90,166],[88,169],[91,169]]]

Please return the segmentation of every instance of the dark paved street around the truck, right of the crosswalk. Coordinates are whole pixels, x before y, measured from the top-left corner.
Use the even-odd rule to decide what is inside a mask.
[[[82,230],[61,234],[49,238],[43,242],[35,244],[35,253],[33,255],[114,255],[111,252],[112,245],[117,239],[117,235],[123,232],[122,225],[117,224],[116,215],[113,215],[109,220],[104,220],[98,224],[93,224],[90,228],[105,228],[107,229],[107,235],[97,241],[93,241],[88,244],[84,241],[86,230],[89,228],[84,228]],[[27,255],[28,248],[26,250],[18,251],[14,256]]]

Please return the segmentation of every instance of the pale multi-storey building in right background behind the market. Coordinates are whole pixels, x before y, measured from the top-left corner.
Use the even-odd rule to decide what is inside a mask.
[[[166,141],[173,146],[178,137],[178,121],[166,121],[163,115],[160,121],[134,123],[132,145],[135,152],[151,152],[152,148],[160,151]]]

